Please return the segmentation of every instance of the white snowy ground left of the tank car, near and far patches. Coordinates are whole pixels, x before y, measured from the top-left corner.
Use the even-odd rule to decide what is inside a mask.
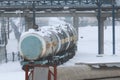
[[[7,44],[8,60],[11,60],[12,52],[18,52],[18,42],[15,39],[14,32],[10,34]],[[0,80],[25,80],[24,76],[19,61],[0,64]]]

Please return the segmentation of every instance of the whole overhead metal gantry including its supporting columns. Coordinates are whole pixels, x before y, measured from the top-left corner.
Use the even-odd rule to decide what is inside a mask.
[[[115,54],[115,18],[120,17],[119,9],[117,0],[0,0],[0,17],[24,17],[26,30],[35,26],[35,17],[73,17],[76,29],[79,17],[97,17],[98,54],[104,54],[103,26],[107,17],[112,17]]]

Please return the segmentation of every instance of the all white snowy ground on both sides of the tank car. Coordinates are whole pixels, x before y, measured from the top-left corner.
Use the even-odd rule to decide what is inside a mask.
[[[97,27],[80,27],[78,51],[73,59],[69,60],[62,66],[73,66],[79,62],[120,62],[120,27],[116,27],[116,55],[112,55],[112,29],[105,29],[105,54],[103,57],[98,55],[98,29]],[[11,34],[13,35],[13,33]],[[14,42],[14,43],[13,43]],[[18,47],[15,37],[12,36],[7,45],[8,53],[17,52]],[[12,45],[12,46],[11,46]],[[14,45],[14,46],[13,46]],[[0,80],[25,80],[25,74],[21,70],[21,65],[18,61],[0,64]]]

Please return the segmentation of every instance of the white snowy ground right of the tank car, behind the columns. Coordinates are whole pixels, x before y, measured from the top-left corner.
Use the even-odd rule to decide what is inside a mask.
[[[71,66],[75,63],[119,63],[120,62],[120,27],[116,26],[116,54],[112,53],[112,27],[108,26],[104,33],[104,55],[98,57],[98,28],[80,27],[78,51],[74,58],[63,66]],[[83,38],[81,38],[83,37]],[[117,65],[119,66],[119,65]]]

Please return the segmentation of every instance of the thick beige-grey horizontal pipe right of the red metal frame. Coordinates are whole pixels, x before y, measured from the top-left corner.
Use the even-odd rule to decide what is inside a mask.
[[[120,75],[120,69],[92,69],[87,65],[59,67],[57,80],[96,80],[97,78],[115,77]],[[119,80],[119,79],[118,79]]]

